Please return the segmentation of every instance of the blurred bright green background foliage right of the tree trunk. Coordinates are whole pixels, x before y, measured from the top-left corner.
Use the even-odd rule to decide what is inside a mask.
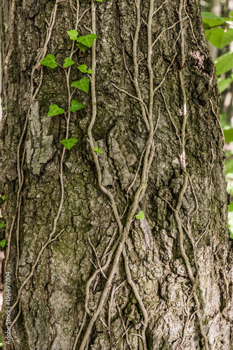
[[[233,11],[229,13],[228,18],[218,17],[214,13],[208,12],[203,12],[202,18],[207,40],[224,52],[223,55],[214,60],[218,87],[220,93],[224,95],[225,90],[229,90],[233,83],[233,51],[229,50],[229,45],[233,41]],[[230,144],[230,146],[232,143],[229,148],[232,151],[226,151],[225,173],[227,190],[233,198],[233,127],[224,114],[220,115],[220,121],[225,135],[225,143]],[[233,200],[228,207],[228,227],[233,239]]]

